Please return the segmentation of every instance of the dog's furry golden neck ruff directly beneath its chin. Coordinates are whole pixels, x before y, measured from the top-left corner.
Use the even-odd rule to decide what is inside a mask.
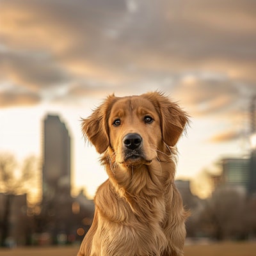
[[[109,180],[117,193],[123,191],[132,198],[154,197],[163,195],[175,176],[176,152],[171,152],[170,148],[159,152],[162,154],[150,163],[141,161],[141,164],[132,166],[116,163],[115,152],[109,148],[102,156],[101,163],[106,167]]]

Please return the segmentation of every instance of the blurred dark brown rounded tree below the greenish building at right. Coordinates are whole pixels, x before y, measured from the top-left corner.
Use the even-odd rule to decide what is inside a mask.
[[[200,224],[218,240],[242,238],[246,228],[246,194],[239,188],[222,186],[207,200]]]

